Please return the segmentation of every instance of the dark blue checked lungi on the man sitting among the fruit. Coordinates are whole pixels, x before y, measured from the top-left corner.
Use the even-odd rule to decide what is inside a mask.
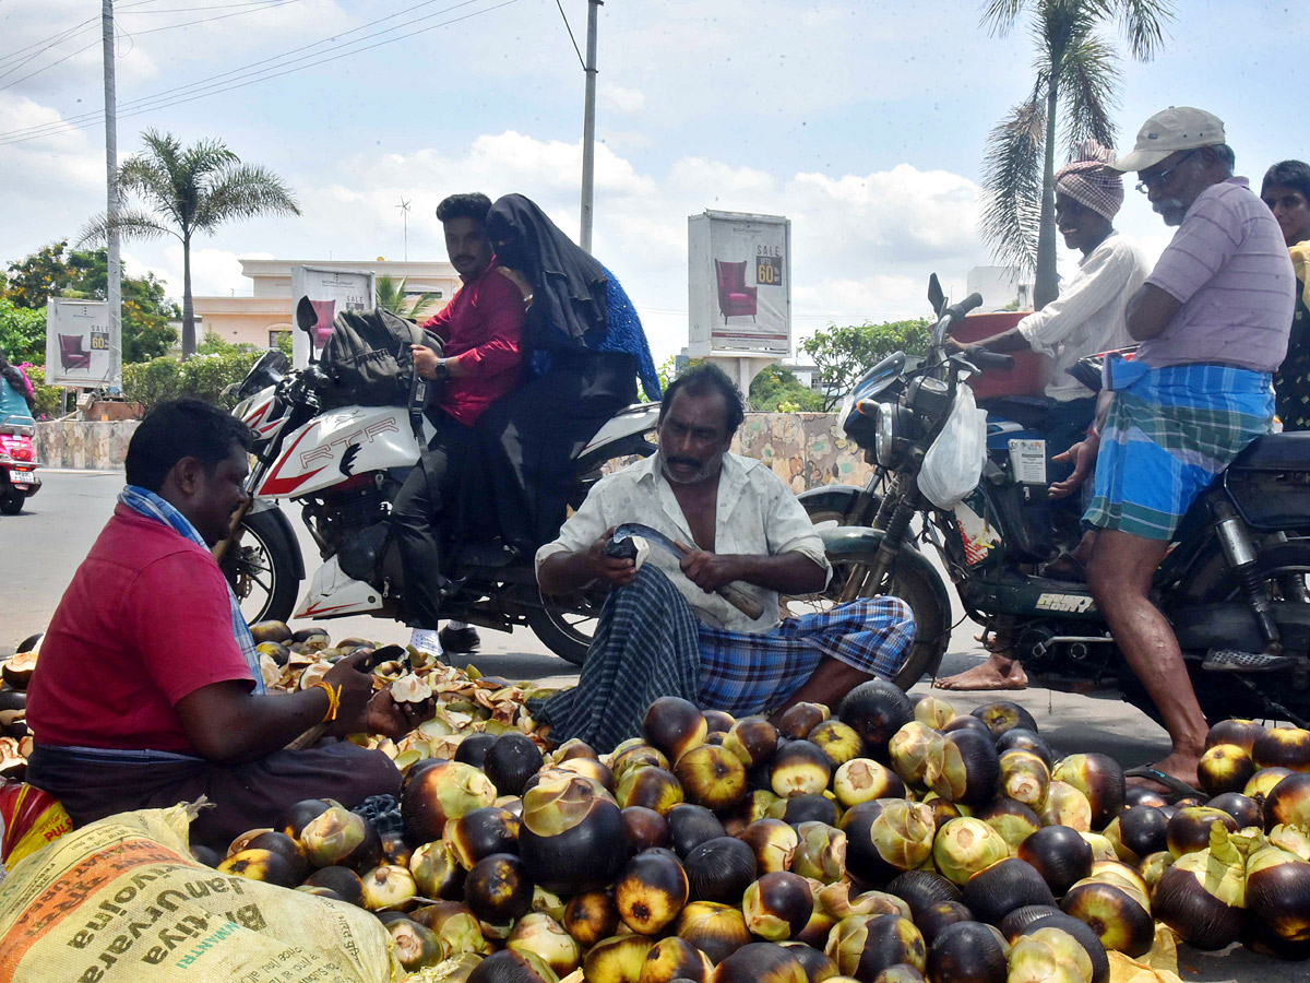
[[[741,717],[786,703],[824,657],[867,675],[891,678],[914,641],[909,606],[870,598],[787,619],[751,634],[707,628],[654,565],[610,592],[578,685],[529,712],[550,723],[550,739],[580,738],[596,751],[641,733],[646,708],[681,696]]]

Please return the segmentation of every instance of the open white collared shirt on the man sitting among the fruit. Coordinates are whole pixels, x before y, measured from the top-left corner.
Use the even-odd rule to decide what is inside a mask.
[[[694,547],[683,507],[668,480],[660,473],[658,461],[658,455],[652,455],[601,478],[582,509],[569,516],[559,530],[559,537],[537,550],[537,571],[540,573],[548,556],[580,553],[609,527],[627,522],[643,523],[669,539]],[[762,461],[735,453],[723,455],[723,469],[719,473],[714,552],[753,556],[803,553],[832,575],[823,540],[791,489]],[[646,562],[663,570],[686,598],[696,616],[711,628],[758,634],[778,624],[777,591],[753,583],[736,585],[764,608],[760,617],[751,619],[718,594],[707,594],[692,583],[672,553],[651,545]]]

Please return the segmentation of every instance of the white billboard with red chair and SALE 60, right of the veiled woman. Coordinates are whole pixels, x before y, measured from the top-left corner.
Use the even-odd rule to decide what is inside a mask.
[[[706,211],[686,220],[692,355],[791,351],[791,220]]]

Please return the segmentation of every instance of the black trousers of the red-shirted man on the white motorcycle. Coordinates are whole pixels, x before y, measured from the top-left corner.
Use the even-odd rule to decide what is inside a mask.
[[[476,456],[473,429],[443,413],[436,436],[392,505],[392,535],[405,571],[405,624],[410,628],[436,628],[447,582],[444,547],[453,539],[449,524],[460,522],[466,499],[460,488]]]

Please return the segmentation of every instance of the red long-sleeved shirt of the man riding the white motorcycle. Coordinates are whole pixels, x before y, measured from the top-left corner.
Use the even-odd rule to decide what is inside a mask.
[[[447,359],[460,357],[460,367],[468,371],[447,379],[440,400],[441,409],[465,426],[473,426],[493,401],[519,384],[523,295],[494,260],[422,326],[441,339]]]

